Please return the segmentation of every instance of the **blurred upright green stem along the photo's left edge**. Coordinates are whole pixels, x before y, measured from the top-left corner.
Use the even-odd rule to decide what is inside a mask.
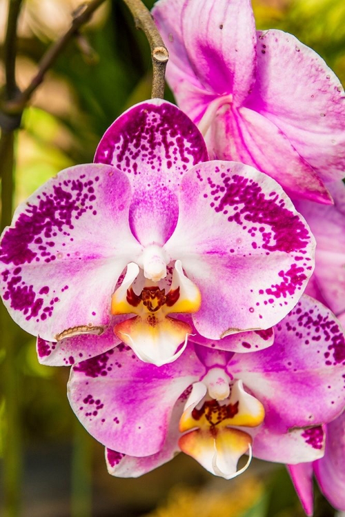
[[[15,59],[17,54],[17,22],[21,0],[8,3],[8,23],[4,42],[6,85],[4,97],[11,101],[17,95]],[[0,118],[0,176],[1,176],[1,231],[10,224],[14,192],[14,132],[3,125],[12,125],[11,119]],[[19,120],[20,123],[20,120]],[[3,505],[5,517],[17,517],[21,509],[21,417],[19,407],[19,369],[16,361],[14,323],[3,303],[0,304],[1,341],[6,352],[3,361],[3,396],[5,400],[5,429],[3,450]]]

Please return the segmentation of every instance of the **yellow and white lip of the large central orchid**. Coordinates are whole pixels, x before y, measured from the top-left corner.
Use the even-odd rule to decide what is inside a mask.
[[[183,352],[192,332],[188,323],[170,318],[168,314],[197,312],[201,294],[185,276],[180,261],[175,263],[168,292],[146,280],[137,294],[132,285],[138,274],[138,265],[128,264],[124,281],[112,295],[112,314],[136,314],[115,325],[114,332],[142,361],[160,366],[174,361]]]

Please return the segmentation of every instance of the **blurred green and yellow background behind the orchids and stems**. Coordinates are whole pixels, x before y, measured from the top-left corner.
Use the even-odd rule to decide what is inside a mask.
[[[0,0],[0,86],[9,3]],[[67,30],[80,4],[23,2],[19,88],[28,85],[43,52]],[[152,4],[146,1],[148,8]],[[292,32],[319,52],[345,83],[344,0],[254,0],[253,7],[257,28]],[[23,113],[15,136],[14,206],[59,170],[92,161],[110,123],[150,97],[150,74],[144,34],[135,30],[121,0],[106,1],[61,54]],[[166,99],[173,101],[168,90]],[[258,460],[232,481],[211,476],[182,454],[139,479],[112,478],[103,447],[84,432],[68,405],[68,369],[39,365],[34,338],[15,325],[6,330],[12,337],[10,343],[3,340],[1,329],[0,458],[11,450],[17,456],[12,472],[0,467],[4,516],[304,516],[284,467]],[[10,400],[5,396],[8,382],[14,393]],[[11,500],[17,501],[12,508],[8,502],[5,507],[3,498],[11,489]],[[340,516],[316,491],[315,516],[335,515]]]

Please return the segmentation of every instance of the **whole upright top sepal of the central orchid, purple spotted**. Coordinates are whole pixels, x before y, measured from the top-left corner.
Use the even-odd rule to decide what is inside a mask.
[[[208,159],[199,130],[179,108],[161,99],[137,104],[110,125],[95,162],[128,174],[133,197],[130,227],[141,244],[164,244],[175,229],[181,176]]]

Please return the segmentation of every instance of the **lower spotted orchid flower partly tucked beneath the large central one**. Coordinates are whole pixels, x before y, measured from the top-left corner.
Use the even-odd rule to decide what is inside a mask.
[[[72,367],[68,398],[107,447],[110,473],[139,476],[182,450],[229,479],[252,454],[290,464],[321,458],[322,424],[344,406],[344,364],[339,322],[303,296],[266,349],[234,354],[189,341],[158,368],[121,344]]]

